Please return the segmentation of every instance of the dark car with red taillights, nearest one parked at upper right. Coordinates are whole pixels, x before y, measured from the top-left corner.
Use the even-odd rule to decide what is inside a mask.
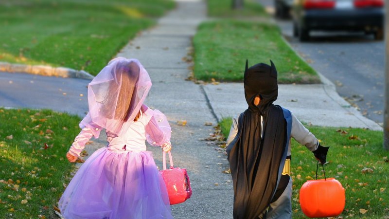
[[[364,31],[384,37],[384,0],[295,0],[293,35],[309,39],[311,30]]]

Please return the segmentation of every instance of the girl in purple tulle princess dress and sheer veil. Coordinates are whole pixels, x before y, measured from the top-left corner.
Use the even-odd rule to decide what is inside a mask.
[[[171,149],[165,115],[143,104],[151,80],[137,59],[118,57],[88,85],[89,112],[66,157],[75,162],[105,128],[108,145],[77,171],[61,199],[66,219],[171,219],[165,184],[145,141]]]

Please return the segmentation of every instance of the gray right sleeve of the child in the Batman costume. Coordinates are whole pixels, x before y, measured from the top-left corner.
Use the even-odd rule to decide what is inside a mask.
[[[301,145],[306,146],[310,151],[318,149],[318,139],[312,134],[307,128],[305,128],[301,122],[292,113],[292,130],[290,133],[291,137],[294,138]]]

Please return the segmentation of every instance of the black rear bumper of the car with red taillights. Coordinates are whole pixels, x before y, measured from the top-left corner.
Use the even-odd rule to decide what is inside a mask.
[[[309,30],[369,31],[383,28],[384,9],[306,10],[302,24]]]

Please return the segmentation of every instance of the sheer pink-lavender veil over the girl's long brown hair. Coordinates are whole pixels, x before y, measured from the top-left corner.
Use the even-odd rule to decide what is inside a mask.
[[[150,88],[150,77],[138,59],[112,59],[88,84],[89,112],[80,127],[97,125],[118,136],[125,133]]]

